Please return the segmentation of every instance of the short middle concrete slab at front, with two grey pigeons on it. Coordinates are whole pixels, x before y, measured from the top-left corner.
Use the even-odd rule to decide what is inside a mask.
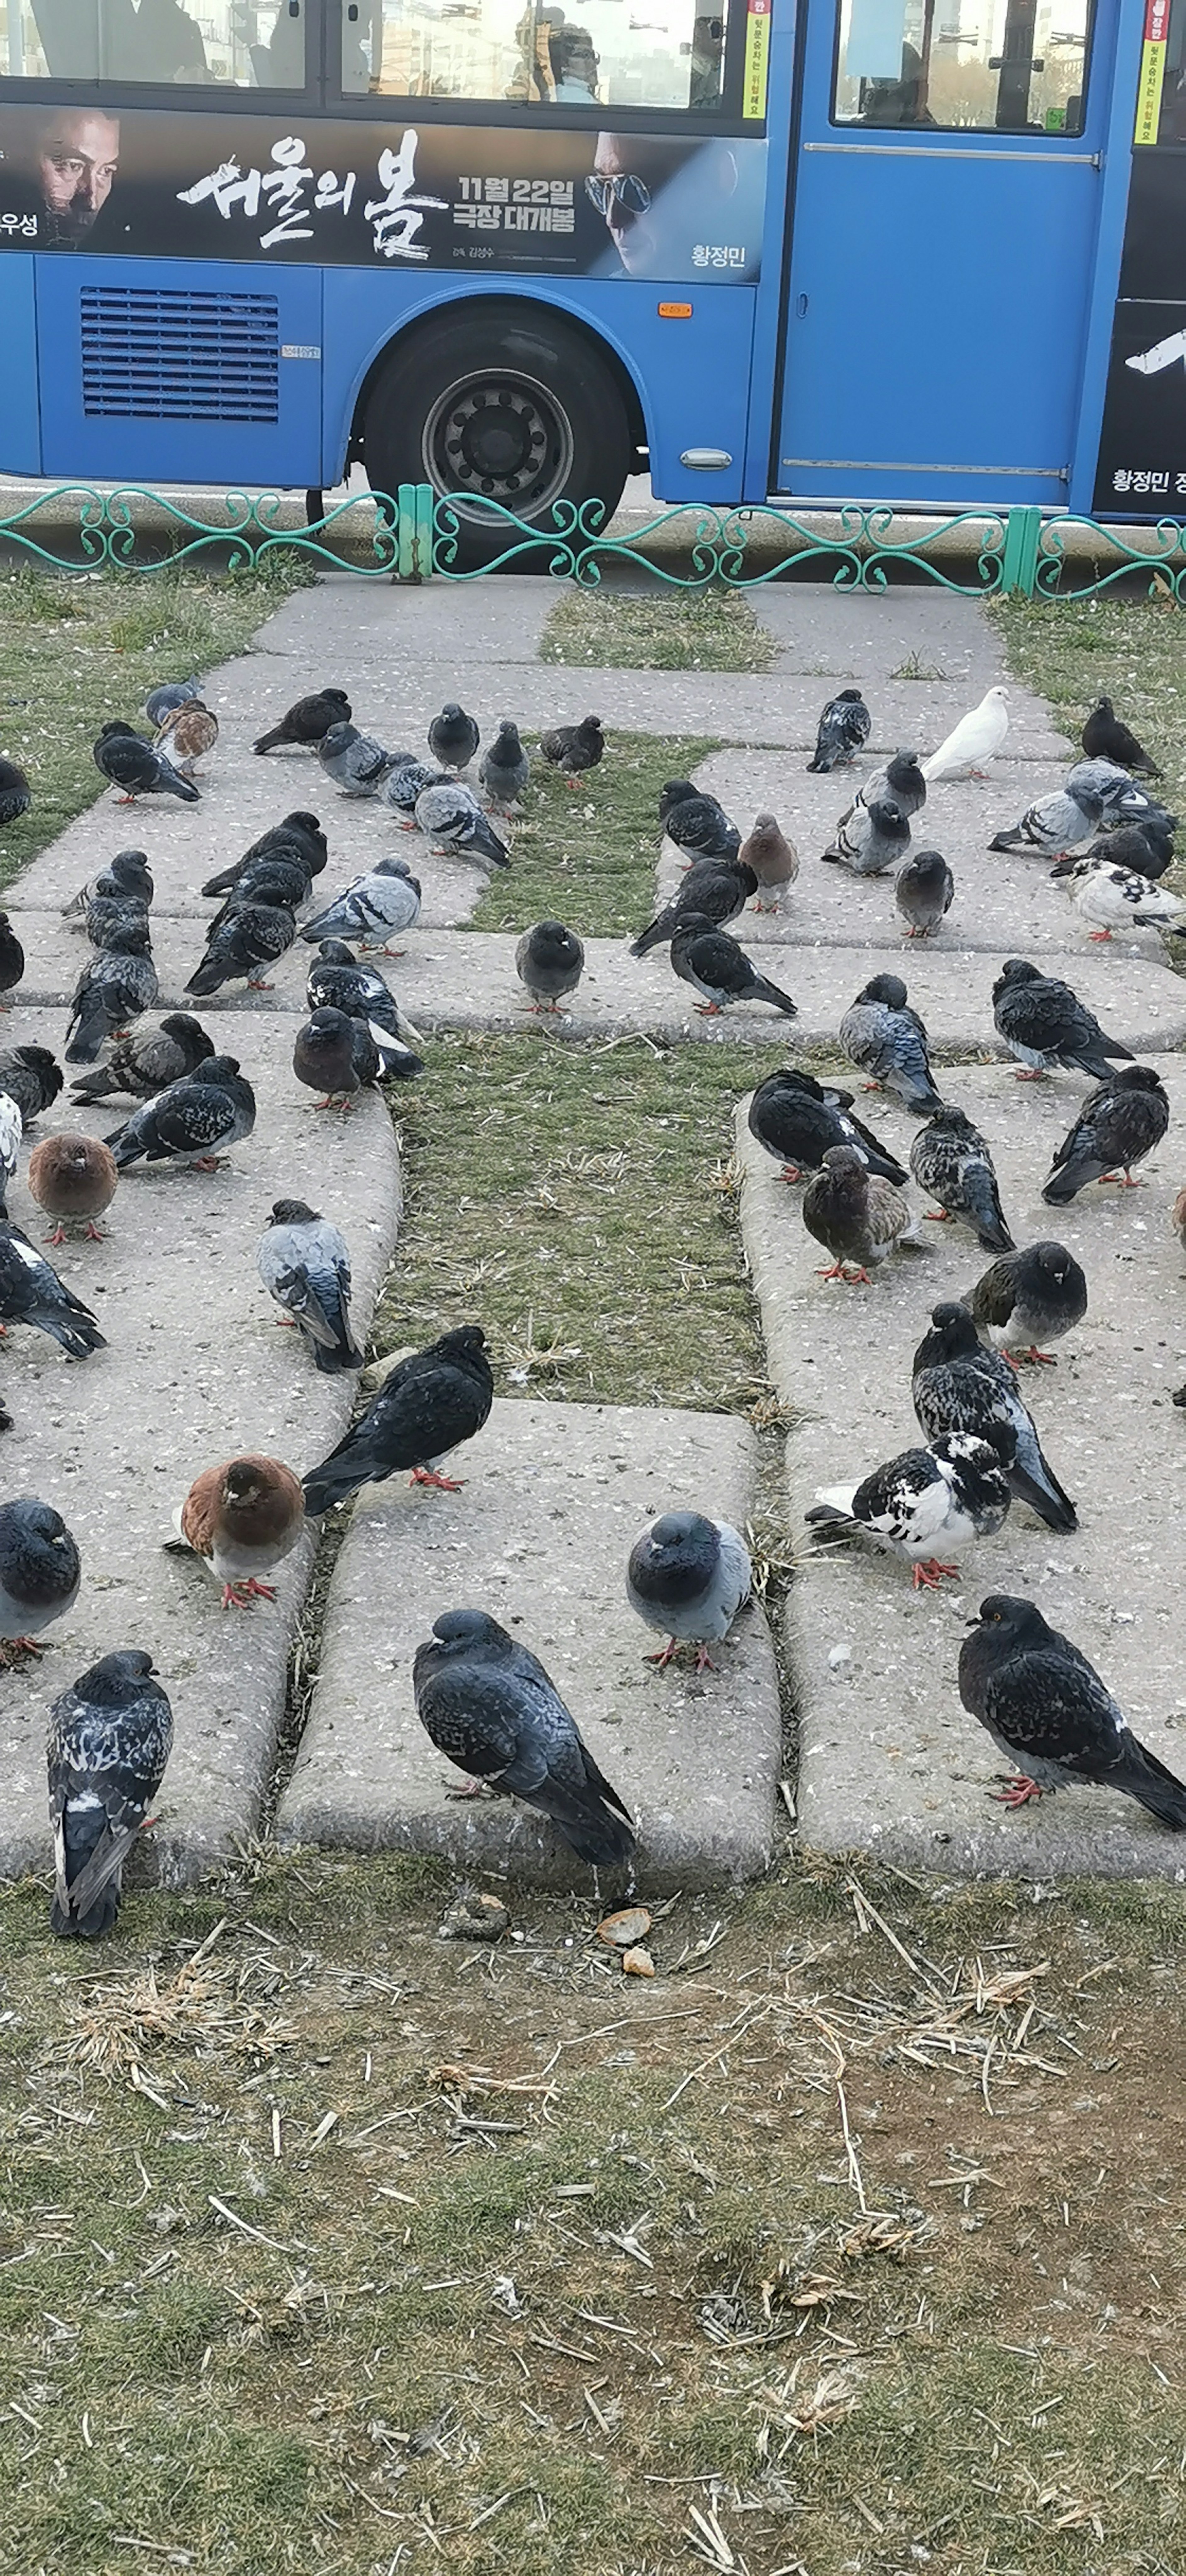
[[[653,1672],[625,1600],[643,1522],[697,1507],[746,1525],[756,1443],[725,1414],[497,1401],[461,1494],[368,1486],[334,1564],[322,1674],[280,1842],[440,1852],[458,1870],[587,1886],[551,1824],[448,1795],[412,1700],[412,1654],[442,1610],[481,1607],[540,1656],[594,1759],[638,1816],[638,1891],[720,1886],[769,1857],[782,1759],[769,1628],[756,1605],[713,1649]]]

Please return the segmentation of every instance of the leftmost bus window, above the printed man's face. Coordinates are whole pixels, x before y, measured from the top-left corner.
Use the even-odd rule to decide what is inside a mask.
[[[304,0],[0,0],[0,75],[304,90]]]

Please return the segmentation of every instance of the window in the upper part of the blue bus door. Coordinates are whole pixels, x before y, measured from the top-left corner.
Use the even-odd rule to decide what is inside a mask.
[[[1091,0],[841,0],[834,124],[1083,134]]]

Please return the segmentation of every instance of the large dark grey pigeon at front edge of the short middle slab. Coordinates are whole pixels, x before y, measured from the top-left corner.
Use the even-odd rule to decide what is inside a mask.
[[[548,1816],[589,1868],[625,1868],[635,1834],[543,1664],[484,1610],[445,1610],[412,1662],[417,1718],[448,1762]]]

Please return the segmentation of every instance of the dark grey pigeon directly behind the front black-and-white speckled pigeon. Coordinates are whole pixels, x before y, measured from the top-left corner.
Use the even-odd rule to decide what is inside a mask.
[[[954,1298],[931,1309],[931,1329],[913,1352],[913,1409],[929,1443],[944,1432],[988,1440],[1014,1502],[1026,1502],[1050,1530],[1078,1530],[1075,1504],[1042,1458],[1016,1368],[998,1350],[983,1350],[972,1314]]]

